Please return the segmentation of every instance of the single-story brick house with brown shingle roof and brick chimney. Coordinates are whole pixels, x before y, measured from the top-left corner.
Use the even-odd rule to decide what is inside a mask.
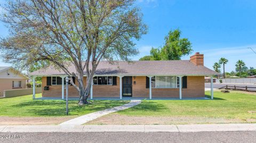
[[[74,65],[69,70],[75,72]],[[94,74],[90,98],[204,98],[204,77],[216,74],[219,73],[204,66],[204,55],[199,53],[190,60],[116,61],[116,64],[101,61]],[[63,99],[66,95],[64,72],[49,67],[31,75],[42,77],[43,97]],[[78,97],[78,92],[69,86],[68,95]]]

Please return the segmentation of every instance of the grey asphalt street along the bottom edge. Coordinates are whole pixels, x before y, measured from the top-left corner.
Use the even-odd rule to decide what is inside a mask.
[[[256,140],[256,131],[0,133],[0,135],[0,142],[255,142]],[[14,135],[16,138],[11,138]]]

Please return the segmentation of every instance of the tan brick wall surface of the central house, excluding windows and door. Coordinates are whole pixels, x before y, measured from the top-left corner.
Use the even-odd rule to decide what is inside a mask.
[[[86,81],[86,77],[84,77]],[[134,85],[134,81],[136,84]],[[76,82],[77,84],[77,82]],[[149,97],[149,89],[146,88],[146,77],[132,77],[132,97]],[[43,87],[46,86],[46,77],[42,79]],[[43,89],[42,87],[42,89]],[[119,97],[119,78],[117,85],[94,85],[93,97]],[[50,90],[42,90],[43,97],[61,97],[61,85],[50,86]],[[66,90],[65,90],[66,95]],[[73,86],[69,86],[69,96],[78,97],[78,92]],[[182,89],[182,97],[204,97],[204,77],[188,77],[187,89]],[[152,97],[179,97],[179,88],[152,88]]]

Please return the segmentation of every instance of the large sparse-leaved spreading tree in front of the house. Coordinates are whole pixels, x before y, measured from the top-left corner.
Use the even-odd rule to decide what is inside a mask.
[[[2,21],[10,37],[1,40],[5,62],[24,68],[53,64],[64,71],[87,103],[99,62],[129,61],[138,54],[134,40],[147,32],[134,0],[10,0]],[[75,66],[75,73],[68,66]],[[84,74],[86,86],[84,86]],[[78,81],[76,86],[71,77]]]

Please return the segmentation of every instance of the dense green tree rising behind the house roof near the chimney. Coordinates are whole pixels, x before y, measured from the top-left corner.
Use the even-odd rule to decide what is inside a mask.
[[[184,55],[193,51],[190,41],[187,38],[180,38],[179,29],[171,30],[165,37],[165,45],[160,48],[151,48],[150,58],[148,56],[140,60],[180,60]]]

